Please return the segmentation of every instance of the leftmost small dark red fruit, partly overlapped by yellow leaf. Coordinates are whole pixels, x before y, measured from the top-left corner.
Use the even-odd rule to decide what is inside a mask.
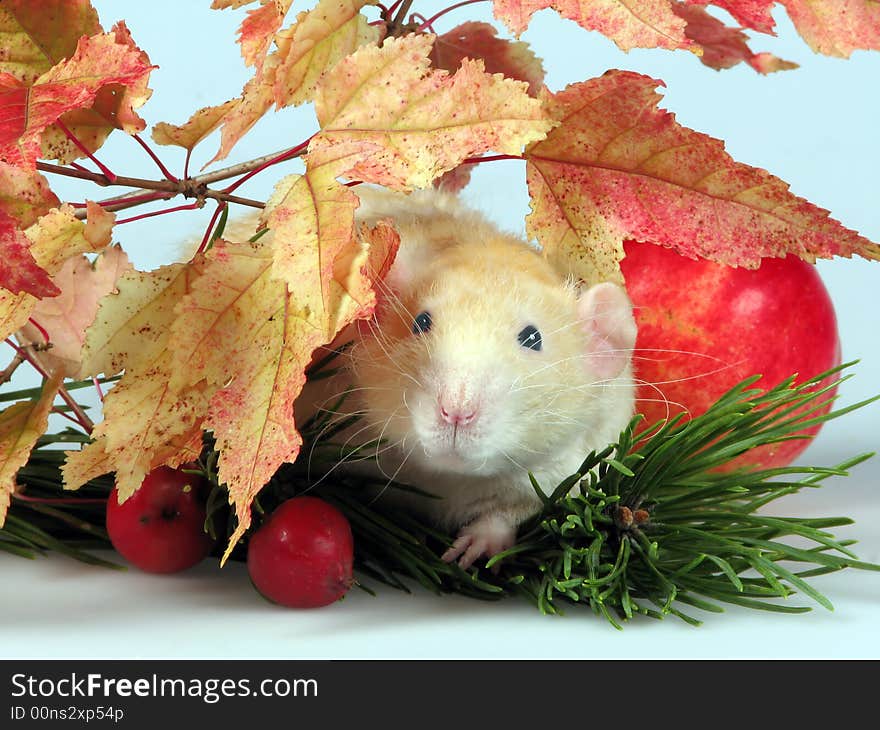
[[[114,487],[107,533],[122,557],[148,573],[176,573],[200,563],[214,540],[205,532],[207,480],[160,466],[124,503]]]

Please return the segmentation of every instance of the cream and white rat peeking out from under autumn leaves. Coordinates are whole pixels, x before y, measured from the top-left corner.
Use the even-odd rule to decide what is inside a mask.
[[[348,350],[344,410],[363,413],[358,440],[384,444],[358,468],[440,497],[407,503],[457,531],[443,558],[469,567],[539,511],[529,472],[550,491],[628,423],[632,308],[616,284],[579,291],[449,194],[357,192],[358,219],[401,236]]]

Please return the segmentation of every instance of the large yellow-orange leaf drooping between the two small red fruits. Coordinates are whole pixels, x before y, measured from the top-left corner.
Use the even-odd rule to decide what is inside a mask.
[[[172,377],[183,390],[216,388],[203,426],[214,433],[219,478],[238,516],[229,550],[250,525],[253,498],[299,453],[293,403],[313,352],[368,316],[375,276],[396,250],[387,224],[355,236],[356,205],[330,164],[287,178],[270,200],[270,233],[256,243],[217,242],[181,301],[172,338],[195,346],[173,353]]]

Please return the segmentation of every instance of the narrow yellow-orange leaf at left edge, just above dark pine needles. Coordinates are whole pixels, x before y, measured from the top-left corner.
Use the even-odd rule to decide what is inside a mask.
[[[43,384],[37,400],[22,401],[0,413],[0,527],[6,521],[15,477],[30,456],[37,439],[46,432],[52,402],[64,379],[59,371]]]

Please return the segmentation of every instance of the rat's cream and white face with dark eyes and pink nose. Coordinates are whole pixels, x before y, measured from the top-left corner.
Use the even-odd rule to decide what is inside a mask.
[[[374,437],[411,463],[484,476],[532,468],[576,443],[601,408],[581,302],[521,248],[513,260],[509,244],[497,256],[443,252],[362,328],[356,396]]]

